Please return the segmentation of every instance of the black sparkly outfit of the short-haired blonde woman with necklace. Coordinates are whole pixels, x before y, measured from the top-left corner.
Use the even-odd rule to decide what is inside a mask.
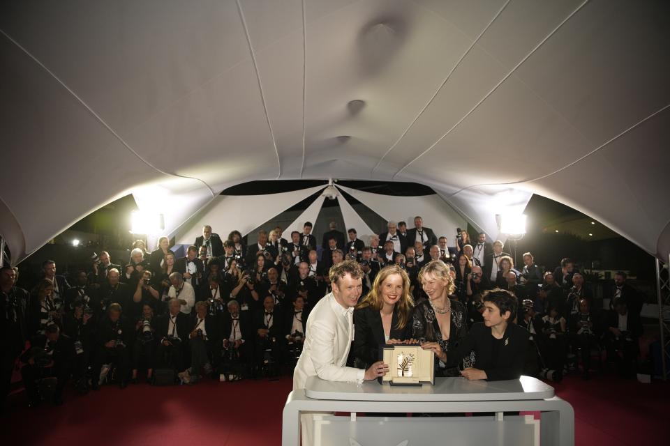
[[[449,353],[454,351],[459,345],[459,342],[468,334],[466,307],[457,300],[451,300],[452,312],[449,328],[449,339],[442,339],[442,332],[440,332],[440,325],[435,317],[435,312],[431,304],[424,300],[417,304],[412,310],[412,317],[410,323],[412,324],[412,338],[418,339],[419,342],[437,342],[442,347],[442,351]],[[463,360],[463,363],[458,367],[446,367],[444,363],[435,357],[435,376],[461,376],[459,371],[465,367],[471,367],[469,357]]]

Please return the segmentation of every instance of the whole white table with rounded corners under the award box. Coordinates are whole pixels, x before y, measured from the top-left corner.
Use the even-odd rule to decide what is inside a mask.
[[[375,417],[360,417],[355,421],[354,413],[496,413],[496,420],[504,422],[503,412],[539,411],[539,439],[542,445],[574,445],[574,411],[572,406],[554,395],[553,387],[529,376],[519,380],[468,381],[465,378],[435,378],[435,385],[421,387],[397,387],[380,385],[377,381],[356,383],[334,383],[318,377],[308,378],[306,388],[290,392],[283,411],[282,444],[300,444],[301,413],[352,413],[352,417],[337,417],[350,423],[363,420],[378,420]],[[515,417],[519,419],[519,417]],[[454,439],[453,422],[472,424],[486,417],[445,418],[452,421],[448,436]],[[401,419],[396,419],[398,421]],[[402,424],[411,423],[404,419]],[[414,418],[413,420],[419,420]],[[438,420],[427,418],[422,420]],[[389,420],[387,420],[388,422]],[[394,420],[391,420],[394,421]],[[465,423],[467,421],[468,423]],[[396,423],[401,424],[401,423]],[[490,424],[490,421],[489,421]],[[444,425],[447,435],[447,424]],[[352,428],[352,429],[357,429]],[[502,434],[501,434],[502,435]],[[438,442],[439,443],[439,442]],[[497,443],[491,438],[491,443]]]

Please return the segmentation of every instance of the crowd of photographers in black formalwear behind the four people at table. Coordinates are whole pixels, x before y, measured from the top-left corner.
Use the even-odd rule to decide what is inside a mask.
[[[361,264],[363,295],[384,266],[399,264],[415,302],[426,299],[420,268],[431,260],[448,263],[456,284],[450,297],[465,305],[468,325],[482,321],[484,291],[512,291],[522,310],[516,323],[530,333],[526,374],[560,380],[581,367],[588,378],[591,357],[601,350],[621,374],[634,373],[641,299],[623,272],[606,290],[611,304],[604,309],[569,259],[543,272],[526,253],[516,266],[502,242],[488,243],[484,233],[471,242],[459,229],[448,243],[416,217],[412,229],[389,222],[364,243],[355,229],[345,235],[332,223],[318,246],[311,229],[306,222],[288,240],[279,227],[260,231],[257,243],[245,246],[238,231],[223,240],[204,226],[179,259],[168,238],[151,252],[137,240],[126,265],[101,252],[69,281],[54,261],[45,261],[43,278],[29,293],[15,286],[17,268],[1,268],[2,400],[17,364],[31,406],[47,395],[61,403],[70,381],[86,393],[140,379],[193,384],[208,376],[288,373],[310,309],[330,290],[328,270],[344,259]]]

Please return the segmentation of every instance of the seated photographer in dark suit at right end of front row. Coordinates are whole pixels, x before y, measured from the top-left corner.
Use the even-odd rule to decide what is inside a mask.
[[[604,334],[607,360],[616,362],[621,376],[634,376],[642,334],[639,314],[629,312],[625,300],[615,300],[614,309],[606,316]]]

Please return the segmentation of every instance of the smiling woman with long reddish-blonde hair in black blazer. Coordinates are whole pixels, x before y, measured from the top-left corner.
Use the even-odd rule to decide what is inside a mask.
[[[410,278],[399,265],[382,268],[371,291],[354,310],[354,363],[367,369],[380,347],[405,341],[412,331]]]

